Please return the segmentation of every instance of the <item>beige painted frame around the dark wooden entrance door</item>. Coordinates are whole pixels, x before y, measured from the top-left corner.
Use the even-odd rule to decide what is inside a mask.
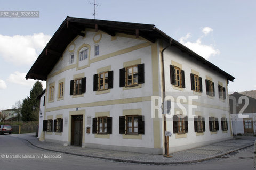
[[[84,141],[85,141],[85,110],[69,111],[68,144],[71,145],[72,116],[73,115],[83,115],[83,132],[82,132],[82,147],[83,147]]]

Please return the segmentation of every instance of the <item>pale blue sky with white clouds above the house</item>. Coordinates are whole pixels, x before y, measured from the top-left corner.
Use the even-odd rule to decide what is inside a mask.
[[[0,11],[39,11],[39,18],[0,17],[0,110],[29,96],[30,67],[67,16],[93,19],[93,0],[4,1]],[[256,1],[97,0],[95,19],[154,24],[236,79],[228,91],[256,90]],[[254,76],[253,76],[254,75]],[[45,88],[45,82],[43,88]]]

